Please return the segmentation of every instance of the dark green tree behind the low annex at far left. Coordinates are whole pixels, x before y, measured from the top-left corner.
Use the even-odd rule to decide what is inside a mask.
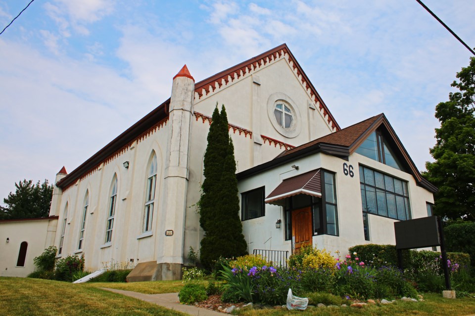
[[[53,186],[45,180],[23,180],[15,183],[16,191],[3,199],[6,207],[0,206],[0,219],[22,219],[47,217],[53,195]]]

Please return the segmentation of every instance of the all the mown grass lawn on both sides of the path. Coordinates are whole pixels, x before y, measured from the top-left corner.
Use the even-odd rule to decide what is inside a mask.
[[[98,287],[117,288],[146,294],[178,292],[181,281],[72,284],[31,278],[0,277],[0,315],[164,315],[184,316],[157,305],[115,294]],[[396,302],[385,306],[315,308],[307,311],[241,311],[242,316],[323,315],[447,315],[475,314],[475,298],[443,299],[441,294],[424,294],[424,302]],[[225,314],[223,314],[225,315]]]

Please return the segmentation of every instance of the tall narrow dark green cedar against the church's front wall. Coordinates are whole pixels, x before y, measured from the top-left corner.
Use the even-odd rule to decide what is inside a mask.
[[[201,240],[200,261],[206,268],[220,257],[247,253],[239,219],[238,180],[233,141],[229,137],[224,105],[216,106],[204,154],[205,179],[199,200],[199,223],[206,235]]]

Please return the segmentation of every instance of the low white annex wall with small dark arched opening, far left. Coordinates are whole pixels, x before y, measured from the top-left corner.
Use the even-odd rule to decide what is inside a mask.
[[[57,219],[0,221],[0,276],[27,276],[35,271],[33,259],[43,253],[52,242],[49,230]],[[6,242],[6,238],[9,242]],[[17,267],[20,244],[28,243],[25,266]]]

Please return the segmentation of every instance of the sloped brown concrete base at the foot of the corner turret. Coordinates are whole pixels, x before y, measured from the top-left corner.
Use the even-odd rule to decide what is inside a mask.
[[[180,280],[182,266],[178,263],[141,262],[129,273],[127,282]]]

